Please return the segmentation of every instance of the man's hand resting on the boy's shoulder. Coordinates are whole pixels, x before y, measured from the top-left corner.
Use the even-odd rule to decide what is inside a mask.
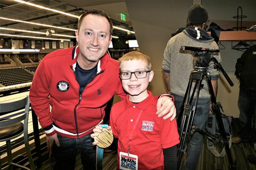
[[[169,96],[161,96],[157,100],[157,114],[158,117],[163,117],[163,119],[171,118],[171,121],[176,117],[176,108],[172,98]]]

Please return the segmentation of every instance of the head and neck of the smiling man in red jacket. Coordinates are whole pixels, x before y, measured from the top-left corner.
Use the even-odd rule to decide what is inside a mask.
[[[82,68],[90,69],[96,66],[108,50],[112,39],[112,23],[109,24],[105,17],[93,14],[80,18],[80,21],[82,22],[79,30],[76,30],[76,40],[82,46],[80,45],[77,62],[81,63]]]

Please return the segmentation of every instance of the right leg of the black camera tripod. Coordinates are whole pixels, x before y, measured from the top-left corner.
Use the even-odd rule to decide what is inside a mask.
[[[233,162],[232,155],[231,155],[230,148],[229,148],[229,143],[228,143],[227,136],[226,136],[226,133],[225,133],[225,128],[224,128],[222,118],[221,118],[221,111],[220,111],[221,105],[220,105],[220,103],[217,104],[217,102],[216,102],[216,97],[214,95],[214,91],[213,91],[213,88],[212,88],[211,77],[209,75],[207,76],[207,84],[208,84],[209,92],[210,92],[210,95],[211,95],[212,105],[214,106],[213,107],[213,112],[216,114],[216,120],[217,120],[217,123],[218,123],[218,127],[220,129],[220,133],[221,133],[222,139],[223,139],[224,144],[225,144],[225,151],[226,151],[227,157],[228,157],[229,162],[230,162],[230,169],[231,170],[236,170],[236,163]]]

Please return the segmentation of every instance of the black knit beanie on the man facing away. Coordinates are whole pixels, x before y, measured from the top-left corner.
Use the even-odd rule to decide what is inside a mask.
[[[203,6],[194,4],[189,8],[188,23],[192,23],[193,25],[200,25],[207,22],[207,20],[208,13]]]

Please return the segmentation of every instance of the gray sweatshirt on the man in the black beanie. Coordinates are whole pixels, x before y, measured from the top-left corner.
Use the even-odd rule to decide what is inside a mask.
[[[163,57],[162,68],[164,72],[170,73],[170,92],[179,96],[184,96],[189,82],[190,72],[193,68],[192,51],[183,51],[181,46],[204,47],[218,49],[218,45],[211,38],[208,40],[197,40],[192,38],[186,31],[172,37],[166,45]],[[218,62],[221,62],[221,56],[218,53],[214,56]],[[220,72],[213,68],[213,62],[209,63],[208,72],[212,80],[218,79]],[[199,98],[210,98],[207,82],[203,80],[203,89],[200,91]]]

